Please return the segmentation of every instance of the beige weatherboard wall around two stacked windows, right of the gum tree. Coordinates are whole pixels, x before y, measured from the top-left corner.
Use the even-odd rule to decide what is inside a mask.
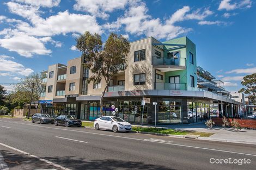
[[[129,61],[128,61],[128,75],[125,75],[125,90],[145,90],[145,89],[153,89],[153,67],[151,65],[152,59],[152,45],[151,45],[152,37],[148,37],[146,39],[142,39],[139,41],[131,42],[131,49],[129,53]],[[141,49],[145,49],[146,51],[146,59],[144,61],[136,61],[134,62],[134,53]],[[133,75],[145,73],[146,74],[146,83],[145,85],[133,85]]]

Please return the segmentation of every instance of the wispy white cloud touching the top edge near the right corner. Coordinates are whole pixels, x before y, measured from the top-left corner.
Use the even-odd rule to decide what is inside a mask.
[[[252,7],[252,1],[251,0],[243,0],[235,3],[230,3],[231,0],[222,0],[220,5],[218,6],[218,10],[234,10],[238,8],[251,8]]]

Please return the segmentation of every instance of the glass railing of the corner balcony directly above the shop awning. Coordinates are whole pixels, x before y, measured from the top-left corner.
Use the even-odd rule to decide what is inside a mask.
[[[187,90],[186,83],[155,83],[155,90]]]

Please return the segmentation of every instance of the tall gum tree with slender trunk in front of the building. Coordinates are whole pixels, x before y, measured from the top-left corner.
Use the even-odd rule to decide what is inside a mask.
[[[103,96],[109,85],[109,81],[126,68],[126,58],[130,52],[130,42],[122,35],[111,33],[103,44],[99,34],[84,33],[76,39],[76,48],[82,52],[84,68],[89,69],[91,75],[88,83],[94,84],[106,81],[106,86],[100,98],[100,112],[103,113]]]

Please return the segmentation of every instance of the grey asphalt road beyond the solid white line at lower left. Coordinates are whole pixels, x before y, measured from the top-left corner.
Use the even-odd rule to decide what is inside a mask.
[[[89,128],[66,128],[51,124],[32,124],[15,119],[0,119],[0,143],[69,169],[255,169],[256,167],[255,145],[113,133]],[[215,163],[210,163],[210,159]],[[220,159],[230,159],[233,163],[222,161],[221,164],[218,163]],[[243,162],[239,165],[241,159]]]

